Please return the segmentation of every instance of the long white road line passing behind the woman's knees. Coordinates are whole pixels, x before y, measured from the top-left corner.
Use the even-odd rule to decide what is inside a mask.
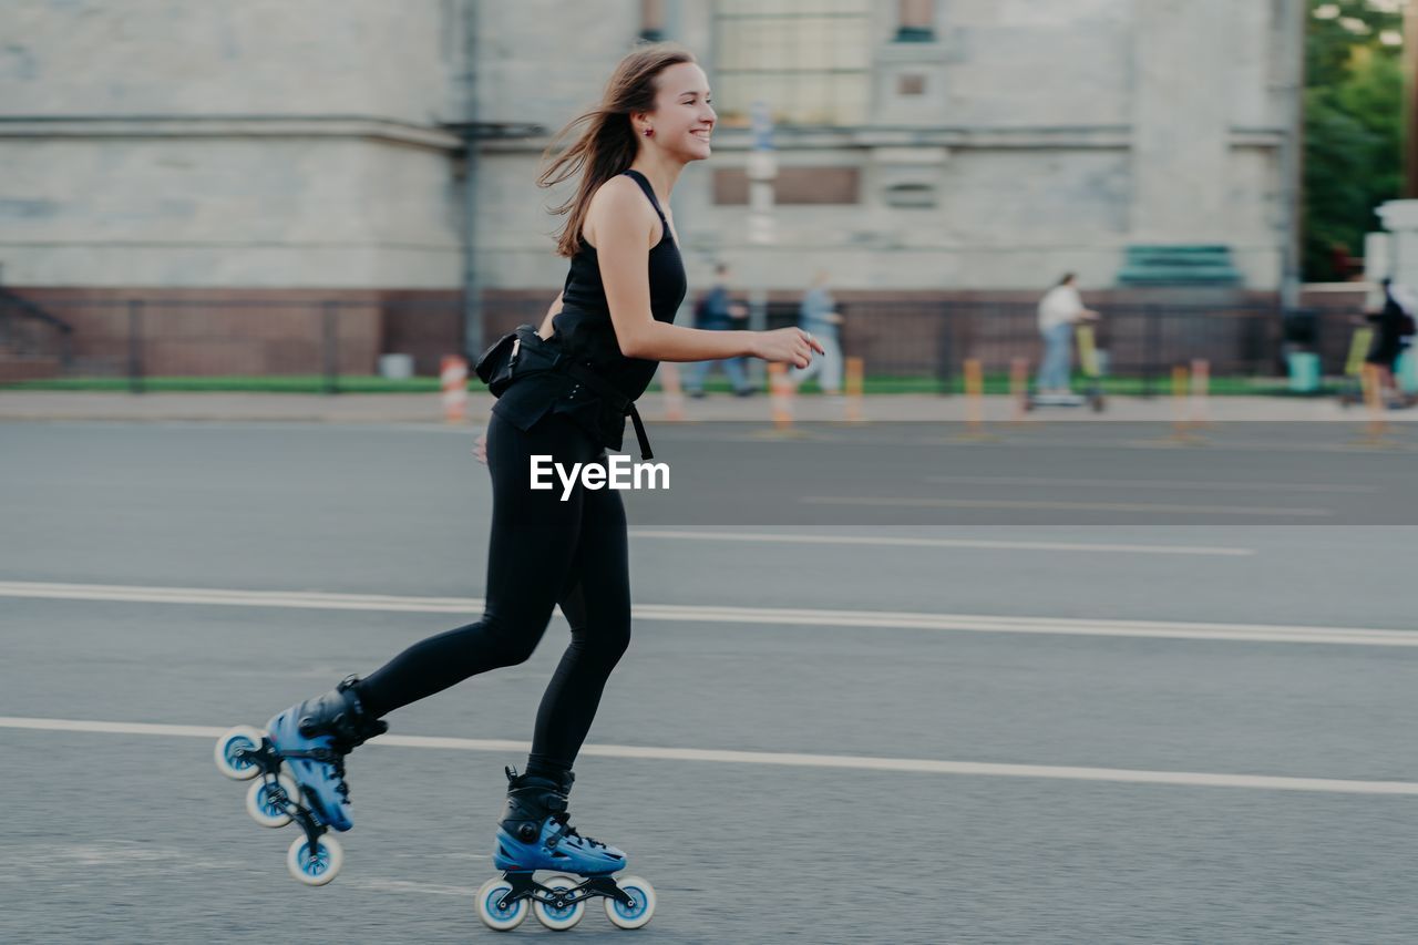
[[[0,597],[104,600],[115,603],[291,607],[381,613],[481,613],[482,597],[396,597],[296,590],[214,590],[129,585],[54,585],[0,582]],[[1147,637],[1245,643],[1324,643],[1339,646],[1418,647],[1418,631],[1370,627],[1307,627],[1173,620],[1093,620],[1083,617],[1001,617],[993,614],[910,613],[895,610],[808,610],[718,604],[635,604],[641,620],[753,623],[807,627],[881,627],[961,633],[1035,633],[1083,637]]]

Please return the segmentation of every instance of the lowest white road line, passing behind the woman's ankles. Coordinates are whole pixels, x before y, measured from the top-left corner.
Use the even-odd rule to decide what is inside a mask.
[[[96,735],[156,735],[167,738],[220,738],[224,728],[206,725],[156,725],[147,722],[96,722],[58,718],[0,717],[0,728],[41,732]],[[434,738],[383,735],[370,745],[467,752],[525,752],[526,742],[481,738]],[[1173,788],[1245,788],[1252,790],[1307,790],[1337,795],[1418,796],[1418,783],[1405,780],[1347,780],[1336,778],[1280,778],[1272,775],[1218,775],[1185,770],[1139,770],[1127,768],[1073,768],[1061,765],[1003,765],[995,762],[951,762],[927,758],[872,758],[862,755],[803,755],[795,752],[744,752],[700,748],[648,748],[640,745],[586,745],[583,756],[637,761],[676,761],[719,765],[776,765],[783,768],[831,768],[849,770],[905,772],[912,775],[964,775],[980,778],[1042,778]]]

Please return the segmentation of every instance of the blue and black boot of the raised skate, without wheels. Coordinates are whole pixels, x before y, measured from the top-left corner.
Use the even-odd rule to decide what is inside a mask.
[[[285,759],[311,812],[342,833],[354,826],[349,814],[345,756],[389,731],[386,722],[364,712],[354,690],[357,682],[352,675],[325,695],[298,702],[267,724],[271,744]]]

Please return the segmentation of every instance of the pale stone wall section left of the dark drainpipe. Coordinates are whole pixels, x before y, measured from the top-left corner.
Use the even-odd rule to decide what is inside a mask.
[[[459,10],[7,3],[6,281],[457,288]]]

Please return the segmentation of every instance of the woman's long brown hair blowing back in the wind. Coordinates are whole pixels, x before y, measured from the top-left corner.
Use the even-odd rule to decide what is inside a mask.
[[[648,112],[655,108],[655,79],[671,65],[696,62],[693,52],[675,43],[648,43],[637,47],[615,67],[601,104],[588,112],[577,115],[566,128],[556,133],[543,152],[543,162],[550,160],[537,177],[539,187],[559,184],[569,177],[581,175],[576,196],[553,207],[552,213],[570,213],[566,226],[556,234],[556,251],[560,255],[576,255],[581,248],[581,224],[591,206],[596,189],[625,172],[635,160],[640,149],[630,116],[632,112]],[[586,125],[576,142],[556,158],[552,152],[557,143]]]

